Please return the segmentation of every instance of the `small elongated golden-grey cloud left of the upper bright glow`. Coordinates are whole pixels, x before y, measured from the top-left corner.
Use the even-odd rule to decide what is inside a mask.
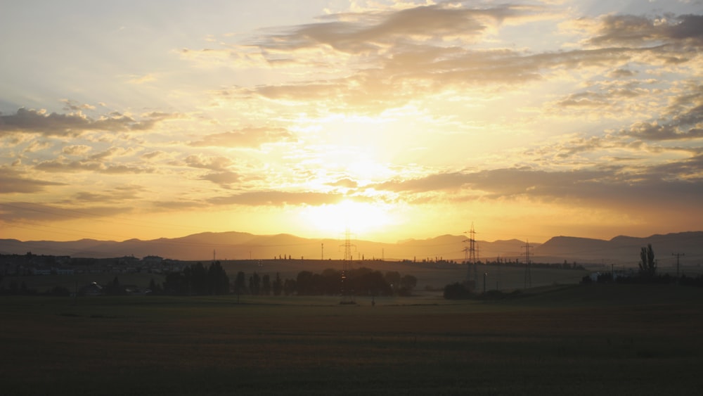
[[[260,147],[266,143],[295,141],[295,135],[285,128],[247,128],[233,132],[206,135],[200,141],[191,142],[194,147]]]

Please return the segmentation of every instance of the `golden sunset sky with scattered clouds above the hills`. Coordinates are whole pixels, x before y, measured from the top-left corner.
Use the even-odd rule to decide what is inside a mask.
[[[0,238],[703,224],[703,2],[4,1]]]

